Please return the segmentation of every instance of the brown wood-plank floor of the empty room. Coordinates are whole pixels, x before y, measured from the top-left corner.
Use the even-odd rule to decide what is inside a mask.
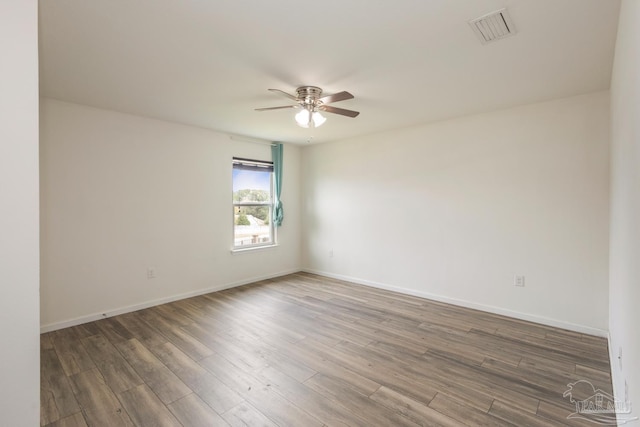
[[[293,274],[41,337],[42,426],[549,426],[606,340]]]

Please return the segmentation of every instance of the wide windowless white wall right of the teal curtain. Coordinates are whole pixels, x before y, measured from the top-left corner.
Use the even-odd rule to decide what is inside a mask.
[[[305,268],[605,335],[608,100],[305,149]]]

